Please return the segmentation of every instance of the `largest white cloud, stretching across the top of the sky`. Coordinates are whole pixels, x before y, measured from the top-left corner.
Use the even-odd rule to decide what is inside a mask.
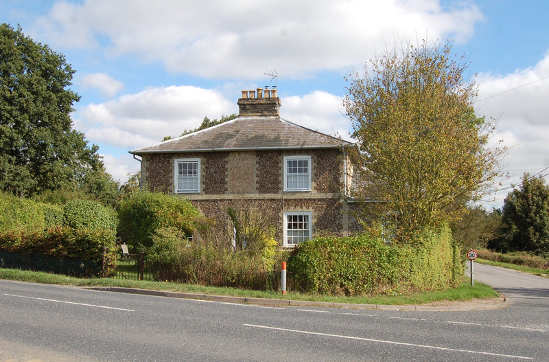
[[[52,45],[137,54],[205,78],[257,79],[272,67],[301,78],[360,65],[403,36],[464,42],[481,19],[476,5],[445,10],[435,0],[88,0],[56,3],[35,32]]]

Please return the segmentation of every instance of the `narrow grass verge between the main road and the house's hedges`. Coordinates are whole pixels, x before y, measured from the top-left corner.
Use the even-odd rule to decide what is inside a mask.
[[[250,291],[234,288],[218,288],[215,286],[200,286],[194,284],[180,284],[172,282],[147,282],[137,280],[115,279],[80,279],[67,275],[43,273],[38,271],[22,271],[19,269],[1,269],[0,279],[20,280],[42,284],[59,284],[71,286],[120,286],[125,288],[151,289],[156,291],[176,291],[182,293],[199,293],[209,295],[230,295],[233,297],[256,297],[270,299],[307,300],[313,302],[357,303],[357,304],[427,304],[443,301],[460,301],[469,299],[484,299],[497,297],[498,293],[486,284],[475,283],[474,287],[463,282],[460,286],[447,291],[419,291],[405,295],[376,295],[360,297],[334,297],[330,295],[308,295],[288,292],[285,296],[279,292]]]

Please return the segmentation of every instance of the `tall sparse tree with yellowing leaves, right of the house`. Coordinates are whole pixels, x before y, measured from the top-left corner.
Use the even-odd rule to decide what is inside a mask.
[[[486,147],[493,125],[474,113],[474,83],[451,43],[406,44],[366,63],[349,79],[368,216],[390,221],[400,240],[459,214],[498,174],[500,148]],[[392,217],[387,217],[390,214]]]

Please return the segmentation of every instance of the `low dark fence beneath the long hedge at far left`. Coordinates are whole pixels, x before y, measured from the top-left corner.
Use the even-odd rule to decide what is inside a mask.
[[[0,250],[0,268],[45,271],[56,274],[71,275],[79,278],[100,276],[100,262],[80,258],[58,258],[45,255],[25,255]]]

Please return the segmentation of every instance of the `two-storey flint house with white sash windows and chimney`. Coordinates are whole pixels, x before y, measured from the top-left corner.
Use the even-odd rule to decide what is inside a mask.
[[[141,187],[185,197],[216,220],[235,203],[253,207],[281,247],[318,231],[349,234],[353,144],[283,120],[276,89],[242,91],[237,104],[234,120],[130,151],[141,157]]]

